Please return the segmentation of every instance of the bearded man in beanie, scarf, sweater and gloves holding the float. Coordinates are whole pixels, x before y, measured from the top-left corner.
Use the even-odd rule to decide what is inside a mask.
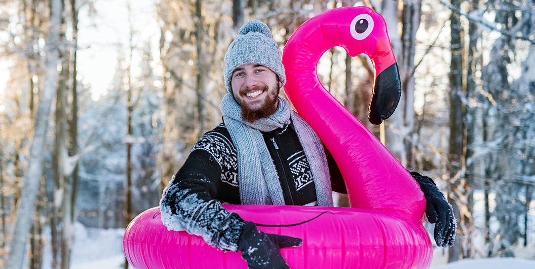
[[[316,133],[279,97],[286,76],[268,26],[251,20],[240,28],[224,77],[224,123],[197,141],[165,188],[162,221],[213,247],[241,251],[249,268],[289,268],[279,249],[301,246],[301,239],[259,232],[221,203],[332,207],[332,191],[347,191]],[[455,218],[444,195],[430,178],[411,175],[424,192],[429,220],[438,217],[438,246],[453,244]]]

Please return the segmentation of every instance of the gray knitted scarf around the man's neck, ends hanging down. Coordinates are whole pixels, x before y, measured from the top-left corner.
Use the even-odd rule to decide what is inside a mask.
[[[279,97],[279,107],[273,115],[253,123],[242,120],[241,107],[231,93],[223,98],[221,110],[225,126],[238,152],[238,183],[242,204],[285,204],[277,170],[261,131],[273,131],[293,122],[310,164],[318,205],[333,206],[331,178],[323,144],[303,118],[292,111],[285,99]]]

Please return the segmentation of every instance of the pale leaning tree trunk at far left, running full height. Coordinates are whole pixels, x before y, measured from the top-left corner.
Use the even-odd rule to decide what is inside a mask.
[[[50,21],[49,36],[46,44],[47,56],[45,59],[46,79],[42,96],[39,100],[37,114],[35,115],[34,137],[30,147],[30,156],[28,159],[28,173],[22,188],[21,196],[24,197],[19,203],[17,210],[17,222],[11,243],[11,253],[7,261],[7,269],[21,269],[24,262],[24,253],[26,250],[26,240],[30,230],[32,214],[35,209],[35,200],[37,191],[41,183],[43,147],[48,129],[48,116],[50,114],[50,105],[56,92],[57,83],[57,62],[58,62],[58,43],[59,27],[61,23],[60,0],[50,0]]]

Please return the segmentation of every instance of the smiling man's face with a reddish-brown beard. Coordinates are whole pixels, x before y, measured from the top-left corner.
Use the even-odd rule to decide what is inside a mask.
[[[277,74],[261,65],[242,65],[232,73],[232,96],[241,106],[242,118],[254,122],[275,113],[282,83]]]

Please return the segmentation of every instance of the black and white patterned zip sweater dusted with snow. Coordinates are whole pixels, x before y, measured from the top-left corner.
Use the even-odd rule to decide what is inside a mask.
[[[293,124],[263,133],[287,205],[316,205],[309,163]],[[238,157],[225,125],[205,133],[164,189],[160,209],[170,230],[202,236],[221,250],[237,251],[244,221],[221,203],[240,204]],[[347,193],[334,159],[327,153],[332,189]]]

